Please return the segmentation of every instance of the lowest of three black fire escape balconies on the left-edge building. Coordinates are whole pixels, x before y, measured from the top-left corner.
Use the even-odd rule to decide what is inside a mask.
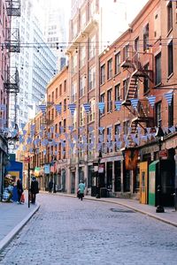
[[[5,71],[4,89],[7,93],[19,93],[19,72],[17,67],[8,67]]]

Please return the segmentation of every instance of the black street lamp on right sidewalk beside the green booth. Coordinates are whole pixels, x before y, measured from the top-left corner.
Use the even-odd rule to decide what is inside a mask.
[[[157,201],[158,206],[156,208],[157,213],[164,213],[164,207],[161,205],[161,192],[162,192],[162,186],[161,186],[161,148],[162,148],[162,142],[164,138],[164,132],[160,125],[158,125],[158,130],[156,133],[156,139],[158,141],[158,148],[159,148],[159,162],[158,162],[158,193],[157,193]]]

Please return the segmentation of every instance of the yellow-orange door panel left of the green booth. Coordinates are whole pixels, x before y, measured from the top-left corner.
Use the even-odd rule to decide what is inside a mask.
[[[140,203],[148,203],[148,162],[140,163]]]

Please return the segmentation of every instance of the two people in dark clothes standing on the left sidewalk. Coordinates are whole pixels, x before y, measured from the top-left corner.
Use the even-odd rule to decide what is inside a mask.
[[[31,203],[35,204],[35,198],[36,198],[36,194],[39,193],[39,185],[38,185],[38,181],[36,180],[35,176],[33,176],[31,178],[31,188],[30,188],[30,201]],[[25,199],[24,199],[24,193],[23,193],[23,185],[22,185],[22,181],[19,178],[17,180],[17,194],[18,194],[18,204],[24,203]]]

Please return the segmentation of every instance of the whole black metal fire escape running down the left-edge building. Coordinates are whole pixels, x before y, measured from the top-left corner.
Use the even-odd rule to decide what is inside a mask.
[[[19,17],[21,15],[21,1],[20,0],[6,0],[6,11],[9,17]],[[19,28],[6,28],[5,48],[9,52],[20,52]],[[19,132],[17,125],[17,95],[19,93],[19,72],[17,67],[8,66],[4,72],[4,89],[8,97],[14,102],[14,129]],[[7,137],[10,141],[18,140],[18,133],[16,136],[9,135]]]

